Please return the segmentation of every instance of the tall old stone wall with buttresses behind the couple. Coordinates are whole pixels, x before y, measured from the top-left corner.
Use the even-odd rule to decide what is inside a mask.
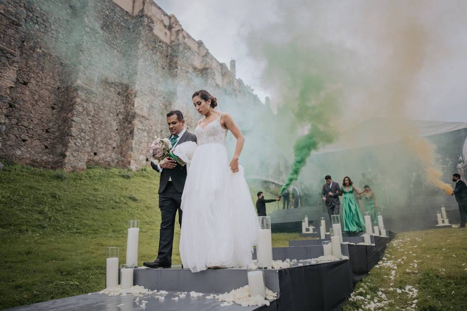
[[[0,0],[0,17],[0,158],[137,169],[168,110],[193,130],[193,91],[261,104],[152,0]]]

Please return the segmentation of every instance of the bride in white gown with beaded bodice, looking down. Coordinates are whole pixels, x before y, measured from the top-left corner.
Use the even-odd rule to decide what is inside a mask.
[[[246,266],[252,261],[258,222],[238,165],[245,139],[232,117],[215,109],[215,97],[199,90],[192,98],[204,118],[195,129],[198,147],[181,197],[181,261],[192,272]],[[237,140],[230,163],[224,145],[228,130]]]

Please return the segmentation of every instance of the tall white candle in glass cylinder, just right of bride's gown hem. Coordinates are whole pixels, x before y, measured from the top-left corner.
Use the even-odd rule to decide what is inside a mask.
[[[256,231],[258,267],[272,267],[271,218],[269,216],[260,216],[258,220],[260,224],[260,229]]]

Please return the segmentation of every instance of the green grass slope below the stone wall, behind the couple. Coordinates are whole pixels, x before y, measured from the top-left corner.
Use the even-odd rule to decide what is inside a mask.
[[[123,262],[129,219],[141,221],[139,264],[155,259],[158,186],[159,175],[151,169],[64,173],[5,165],[0,171],[0,309],[103,289],[105,248],[119,246]],[[287,246],[298,237],[273,234],[273,244]],[[177,225],[174,264],[180,264],[179,238]]]

